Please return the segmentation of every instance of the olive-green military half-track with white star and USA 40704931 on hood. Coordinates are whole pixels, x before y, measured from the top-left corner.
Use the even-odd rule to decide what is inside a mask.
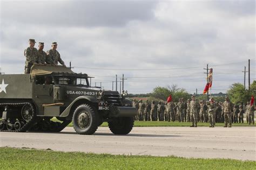
[[[133,128],[135,108],[125,94],[91,87],[87,74],[63,66],[33,65],[30,74],[0,75],[0,131],[93,134],[108,122],[114,134]]]

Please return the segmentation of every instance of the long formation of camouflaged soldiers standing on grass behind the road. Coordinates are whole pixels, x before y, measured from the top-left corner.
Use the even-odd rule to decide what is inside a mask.
[[[244,114],[248,124],[254,124],[254,104],[248,102],[242,105],[233,105],[226,97],[224,102],[215,102],[211,98],[208,102],[198,101],[195,96],[185,102],[180,98],[178,103],[167,103],[146,100],[132,101],[133,107],[138,110],[136,121],[167,121],[167,122],[191,122],[190,127],[197,127],[198,122],[210,123],[210,128],[215,123],[224,123],[224,128],[231,128],[232,123],[244,123]]]

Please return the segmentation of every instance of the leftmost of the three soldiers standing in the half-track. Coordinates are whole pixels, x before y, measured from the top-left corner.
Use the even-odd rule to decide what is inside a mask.
[[[32,65],[38,62],[37,49],[34,47],[35,43],[35,39],[29,39],[29,47],[24,51],[24,55],[26,57],[25,74],[30,74]]]

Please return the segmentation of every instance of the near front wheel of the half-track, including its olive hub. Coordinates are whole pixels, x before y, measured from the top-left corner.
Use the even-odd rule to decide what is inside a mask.
[[[97,111],[88,104],[79,105],[73,114],[73,128],[78,134],[93,134],[98,129]]]

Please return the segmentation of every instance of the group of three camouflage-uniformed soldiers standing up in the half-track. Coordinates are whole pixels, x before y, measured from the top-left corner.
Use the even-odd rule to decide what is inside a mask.
[[[35,48],[36,41],[35,39],[29,39],[29,47],[25,49],[24,55],[26,57],[25,62],[25,74],[30,73],[30,69],[33,64],[42,64],[42,65],[52,65],[57,66],[58,62],[64,67],[65,63],[60,58],[59,52],[57,49],[57,42],[52,42],[51,49],[47,52],[44,52],[44,42],[39,42],[38,49]]]

